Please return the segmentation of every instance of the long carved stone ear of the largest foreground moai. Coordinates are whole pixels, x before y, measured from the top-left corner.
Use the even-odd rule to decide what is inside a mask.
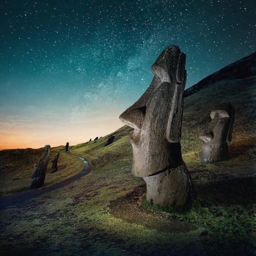
[[[186,55],[180,53],[177,62],[176,79],[177,84],[174,84],[174,96],[172,108],[167,123],[166,138],[169,142],[179,142],[181,138],[181,125],[183,114],[183,93],[186,83],[186,70],[185,70]]]

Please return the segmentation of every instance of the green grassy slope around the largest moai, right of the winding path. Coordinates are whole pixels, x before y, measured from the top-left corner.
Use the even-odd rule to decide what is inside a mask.
[[[89,175],[0,212],[2,254],[255,254],[255,84],[255,77],[221,80],[185,98],[182,152],[198,196],[190,211],[144,200],[145,182],[131,174],[131,129],[123,126],[109,146],[105,136],[70,147],[89,160]],[[201,164],[198,135],[221,101],[235,108],[230,160]]]

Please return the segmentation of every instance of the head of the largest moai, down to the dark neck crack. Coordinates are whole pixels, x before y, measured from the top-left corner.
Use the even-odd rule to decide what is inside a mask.
[[[180,138],[185,57],[177,46],[167,47],[151,70],[153,81],[146,92],[120,115],[134,128],[133,174],[147,177],[182,164]]]

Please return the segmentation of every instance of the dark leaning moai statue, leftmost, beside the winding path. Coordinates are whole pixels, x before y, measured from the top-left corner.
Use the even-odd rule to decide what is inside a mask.
[[[42,187],[45,183],[46,169],[50,159],[51,146],[46,145],[38,162],[35,164],[35,169],[31,175],[32,181],[30,189]]]

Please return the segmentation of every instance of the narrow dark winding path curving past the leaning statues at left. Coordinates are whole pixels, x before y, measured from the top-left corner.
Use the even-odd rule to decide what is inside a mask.
[[[53,186],[49,186],[49,187],[42,187],[39,189],[33,189],[33,190],[28,190],[19,194],[15,194],[15,195],[10,195],[10,196],[5,196],[0,198],[0,210],[6,209],[9,206],[14,206],[14,205],[18,205],[18,204],[23,204],[28,200],[40,197],[41,195],[44,195],[46,193],[49,193],[55,189],[64,187],[69,185],[70,183],[72,183],[75,180],[80,179],[82,176],[84,175],[88,175],[91,172],[91,167],[89,165],[89,162],[80,156],[71,154],[70,152],[67,152],[67,154],[75,156],[77,158],[79,158],[80,160],[83,161],[84,164],[84,168],[82,170],[81,173],[67,179],[67,180],[63,180]]]

